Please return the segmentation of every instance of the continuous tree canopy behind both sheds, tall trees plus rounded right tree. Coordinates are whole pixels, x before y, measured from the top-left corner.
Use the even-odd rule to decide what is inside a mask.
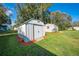
[[[16,24],[21,24],[31,18],[41,20],[46,23],[53,23],[59,27],[59,30],[65,30],[72,26],[72,17],[61,11],[48,12],[48,7],[51,3],[27,3],[16,4],[17,21]]]

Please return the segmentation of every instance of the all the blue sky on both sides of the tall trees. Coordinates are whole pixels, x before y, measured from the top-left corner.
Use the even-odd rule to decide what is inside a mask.
[[[9,8],[12,11],[11,19],[12,21],[16,20],[16,10],[15,3],[4,3],[5,7]],[[65,12],[72,17],[72,21],[79,21],[79,3],[53,3],[52,6],[48,8],[50,12],[55,12],[60,10],[61,12]]]

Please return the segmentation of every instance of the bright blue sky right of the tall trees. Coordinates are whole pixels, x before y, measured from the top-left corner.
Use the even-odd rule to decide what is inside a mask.
[[[50,12],[60,10],[71,15],[72,21],[79,21],[79,3],[55,3],[48,8]]]

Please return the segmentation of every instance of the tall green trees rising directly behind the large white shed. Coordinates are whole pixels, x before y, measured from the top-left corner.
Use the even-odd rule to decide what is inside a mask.
[[[22,23],[30,18],[39,19],[46,23],[48,19],[47,8],[51,5],[43,3],[16,4],[17,23]]]

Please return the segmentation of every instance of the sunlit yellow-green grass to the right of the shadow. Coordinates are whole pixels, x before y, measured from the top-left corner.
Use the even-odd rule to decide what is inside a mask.
[[[39,44],[56,55],[79,55],[79,31],[48,33],[47,39]]]

